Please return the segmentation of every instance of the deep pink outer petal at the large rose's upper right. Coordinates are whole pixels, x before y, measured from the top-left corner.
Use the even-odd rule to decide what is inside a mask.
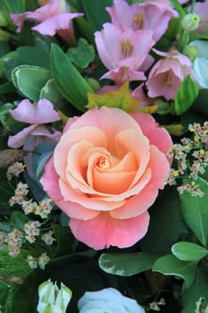
[[[134,113],[130,115],[137,121],[150,144],[166,154],[173,145],[169,132],[156,123],[150,114]]]

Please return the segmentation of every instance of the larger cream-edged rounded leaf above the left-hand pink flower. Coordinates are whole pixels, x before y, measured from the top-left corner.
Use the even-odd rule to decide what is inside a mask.
[[[51,73],[39,66],[20,65],[12,70],[12,83],[23,95],[37,102],[40,90],[51,78]]]

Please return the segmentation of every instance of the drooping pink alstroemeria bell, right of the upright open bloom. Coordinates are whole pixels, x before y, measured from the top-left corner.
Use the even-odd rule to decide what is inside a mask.
[[[154,64],[149,73],[146,87],[148,97],[163,96],[173,99],[182,81],[187,75],[192,76],[192,63],[186,55],[172,50],[168,53],[153,49],[157,55],[164,58]]]

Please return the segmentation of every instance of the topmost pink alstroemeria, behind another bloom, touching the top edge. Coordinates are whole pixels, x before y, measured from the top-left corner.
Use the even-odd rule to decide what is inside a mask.
[[[165,33],[171,18],[179,16],[170,4],[152,1],[129,5],[124,0],[114,0],[106,11],[121,30],[153,30],[155,42]]]

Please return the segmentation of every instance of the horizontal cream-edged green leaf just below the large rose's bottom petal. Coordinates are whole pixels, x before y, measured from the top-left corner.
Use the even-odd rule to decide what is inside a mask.
[[[132,276],[150,269],[156,258],[146,252],[104,253],[99,258],[99,266],[109,274]]]

